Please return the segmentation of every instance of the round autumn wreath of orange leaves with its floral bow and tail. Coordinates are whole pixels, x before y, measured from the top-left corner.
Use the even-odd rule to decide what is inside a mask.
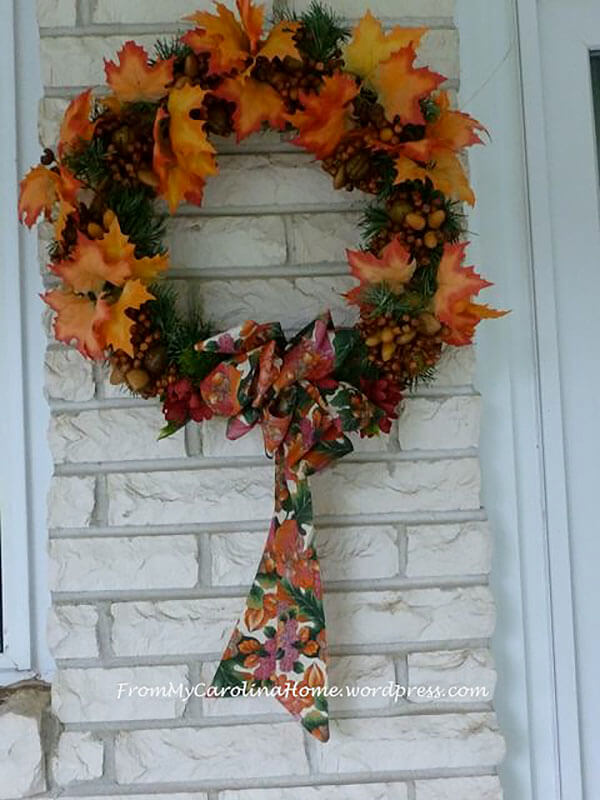
[[[277,690],[328,738],[327,641],[308,478],[352,451],[348,434],[388,433],[402,392],[434,375],[444,346],[470,344],[501,316],[474,302],[490,284],[464,265],[462,204],[475,198],[461,151],[482,125],[452,108],[445,78],[415,66],[425,28],[385,31],[367,12],[353,31],[313,2],[282,12],[236,0],[197,12],[155,53],[133,41],[106,61],[108,93],[68,106],[56,154],[21,183],[20,219],[54,228],[43,295],[56,338],[107,360],[111,382],[159,397],[161,436],[228,418],[235,439],[260,425],[275,460],[265,550],[214,678],[223,693]],[[286,339],[278,323],[215,333],[182,316],[163,244],[166,209],[202,203],[218,173],[213,136],[240,142],[294,131],[336,189],[371,195],[362,248],[347,252],[354,327],[329,314]],[[289,138],[289,137],[288,137]]]

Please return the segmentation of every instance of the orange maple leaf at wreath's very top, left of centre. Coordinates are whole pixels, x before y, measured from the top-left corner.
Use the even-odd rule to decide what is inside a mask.
[[[216,6],[216,14],[197,11],[186,17],[197,27],[182,39],[195,53],[210,54],[211,75],[241,70],[250,50],[250,40],[234,14],[223,3],[216,3]]]

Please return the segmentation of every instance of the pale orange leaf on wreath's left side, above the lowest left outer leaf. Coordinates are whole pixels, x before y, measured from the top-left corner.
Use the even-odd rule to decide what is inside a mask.
[[[75,292],[100,295],[105,283],[122,286],[131,276],[130,259],[111,260],[102,245],[102,240],[88,239],[77,232],[77,244],[69,257],[51,265],[52,271]]]

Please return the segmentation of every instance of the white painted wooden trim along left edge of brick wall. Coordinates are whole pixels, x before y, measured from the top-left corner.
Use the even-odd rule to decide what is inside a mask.
[[[31,674],[48,677],[49,607],[46,494],[51,462],[43,400],[42,289],[35,235],[15,225],[17,183],[39,158],[37,104],[41,97],[35,0],[2,0],[0,59],[0,493],[3,528],[5,627],[0,683]],[[3,347],[6,345],[6,347]],[[10,457],[5,454],[10,453]]]

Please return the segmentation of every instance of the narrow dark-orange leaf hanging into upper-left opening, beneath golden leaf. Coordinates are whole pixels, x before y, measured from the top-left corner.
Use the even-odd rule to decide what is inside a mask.
[[[152,166],[159,180],[159,192],[165,198],[169,211],[173,214],[177,206],[186,200],[195,205],[202,204],[204,179],[188,172],[179,165],[168,136],[165,136],[163,122],[169,115],[159,108],[154,123],[154,154]],[[168,129],[167,129],[168,130]]]

